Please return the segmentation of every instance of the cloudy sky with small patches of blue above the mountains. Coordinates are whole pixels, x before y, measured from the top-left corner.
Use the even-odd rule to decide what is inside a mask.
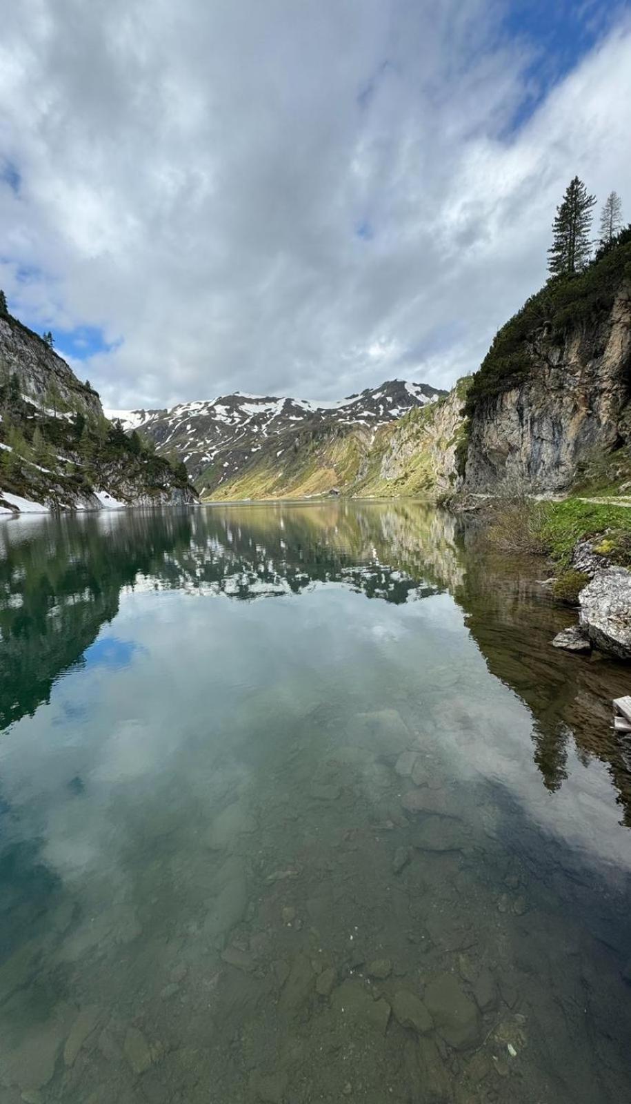
[[[631,221],[631,2],[0,0],[0,287],[108,407],[449,386],[576,173]]]

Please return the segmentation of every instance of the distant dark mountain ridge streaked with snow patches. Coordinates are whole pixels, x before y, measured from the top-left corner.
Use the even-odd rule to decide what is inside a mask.
[[[279,446],[285,449],[297,432],[307,428],[376,429],[445,394],[426,383],[389,380],[334,403],[236,391],[210,401],[179,403],[171,410],[110,410],[107,416],[119,418],[128,432],[138,429],[152,438],[159,453],[179,453],[199,486],[205,481],[217,486],[242,470],[256,453],[269,452],[275,438],[282,437]]]

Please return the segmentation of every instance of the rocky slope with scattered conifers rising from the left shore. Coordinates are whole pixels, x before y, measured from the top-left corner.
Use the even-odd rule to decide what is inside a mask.
[[[0,315],[0,513],[189,501],[183,465],[127,437],[61,357]]]

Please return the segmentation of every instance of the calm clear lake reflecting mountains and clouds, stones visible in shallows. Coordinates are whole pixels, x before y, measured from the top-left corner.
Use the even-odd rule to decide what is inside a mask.
[[[0,555],[2,1104],[631,1098],[631,672],[543,563],[413,502]]]

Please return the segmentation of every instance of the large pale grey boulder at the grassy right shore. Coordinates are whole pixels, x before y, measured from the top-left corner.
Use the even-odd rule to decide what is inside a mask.
[[[631,659],[631,572],[597,571],[580,592],[580,625],[597,648]]]

